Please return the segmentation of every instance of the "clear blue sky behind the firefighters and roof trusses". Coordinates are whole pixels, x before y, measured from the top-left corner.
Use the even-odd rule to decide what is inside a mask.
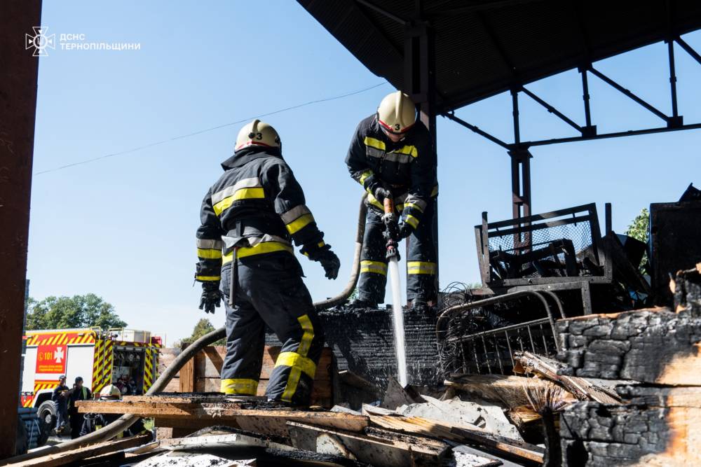
[[[169,140],[304,102],[384,82],[355,60],[294,1],[194,2],[45,0],[50,33],[88,42],[140,43],[140,50],[50,50],[40,59],[34,172]],[[701,34],[685,36],[701,50]],[[669,110],[666,46],[656,44],[595,64],[662,111]],[[676,48],[679,111],[701,121],[701,66]],[[576,71],[527,86],[583,123]],[[359,186],[343,164],[358,121],[393,90],[384,84],[352,97],[270,116],[284,155],[303,186],[326,239],[341,258],[336,281],[302,259],[315,300],[345,286],[351,267]],[[647,113],[590,78],[599,132],[657,127]],[[522,139],[571,136],[573,130],[521,98]],[[510,97],[458,111],[497,137],[512,139]],[[241,125],[97,162],[38,174],[32,186],[30,295],[93,292],[113,303],[132,328],[172,343],[205,316],[193,287],[194,231],[200,201],[221,173]],[[510,165],[499,146],[438,119],[440,277],[479,281],[472,227],[480,213],[511,216]],[[613,226],[625,226],[651,202],[676,201],[701,186],[701,131],[674,132],[534,148],[533,211],[613,202]],[[211,315],[207,317],[211,318]],[[212,318],[224,323],[224,311]]]

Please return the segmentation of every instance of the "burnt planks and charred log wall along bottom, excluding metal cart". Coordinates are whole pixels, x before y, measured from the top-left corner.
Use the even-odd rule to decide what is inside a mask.
[[[512,349],[503,358],[514,375],[454,374],[443,386],[402,386],[388,376],[381,390],[336,370],[327,350],[328,376],[320,381],[328,382],[323,400],[327,407],[334,400],[331,410],[193,391],[80,401],[81,412],[154,417],[159,438],[102,442],[14,465],[693,465],[701,457],[694,434],[701,428],[701,373],[694,370],[701,365],[700,278],[701,265],[676,274],[674,312],[557,321],[558,360]],[[194,376],[181,372],[179,389],[211,386],[201,379],[216,371],[217,355],[207,349],[195,358]],[[336,384],[362,396],[343,400]],[[359,400],[372,403],[361,407]]]

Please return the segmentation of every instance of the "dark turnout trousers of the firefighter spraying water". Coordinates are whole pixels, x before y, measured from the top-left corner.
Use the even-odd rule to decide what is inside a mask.
[[[433,218],[436,198],[426,206],[421,222],[409,235],[407,260],[407,300],[421,297],[435,300],[435,276],[437,272],[436,251],[433,242]],[[386,240],[382,233],[385,226],[382,214],[372,207],[367,208],[365,236],[362,239],[360,254],[360,279],[358,298],[369,302],[382,303],[387,284]],[[404,255],[402,255],[402,259]]]

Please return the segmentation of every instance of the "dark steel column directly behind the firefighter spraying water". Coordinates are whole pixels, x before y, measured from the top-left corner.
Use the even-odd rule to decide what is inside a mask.
[[[404,92],[407,92],[416,102],[419,118],[428,128],[431,146],[433,151],[436,151],[434,37],[433,30],[422,20],[421,6],[421,0],[416,0],[416,18],[404,29]],[[437,207],[433,217],[433,238],[436,253],[438,253]],[[436,290],[438,290],[438,274],[436,274]],[[435,301],[436,297],[431,299]]]

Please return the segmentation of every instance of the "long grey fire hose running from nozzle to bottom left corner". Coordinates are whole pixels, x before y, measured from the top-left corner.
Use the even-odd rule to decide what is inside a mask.
[[[362,251],[362,237],[365,235],[365,214],[367,214],[367,206],[365,205],[365,198],[367,193],[363,193],[360,199],[360,208],[358,209],[358,229],[355,232],[355,251],[353,253],[353,266],[351,267],[351,277],[348,278],[348,284],[346,288],[333,298],[328,298],[327,300],[322,300],[320,302],[315,302],[314,307],[316,309],[328,309],[335,307],[337,305],[342,305],[348,297],[353,293],[355,284],[358,283],[358,274],[360,273],[360,252]],[[175,377],[177,372],[187,363],[191,358],[193,358],[200,350],[211,345],[219,339],[226,337],[226,330],[224,328],[219,328],[213,330],[211,333],[207,333],[200,337],[198,340],[186,347],[180,354],[175,358],[175,360],[168,365],[165,370],[158,376],[158,379],[151,385],[151,388],[146,392],[146,396],[154,396],[165,389],[171,379]],[[135,414],[124,414],[111,424],[100,428],[93,433],[81,436],[74,440],[61,442],[57,445],[50,447],[44,447],[42,449],[36,449],[34,452],[29,452],[27,454],[21,454],[20,456],[14,456],[9,459],[0,460],[0,465],[6,465],[7,463],[18,463],[22,461],[28,461],[29,459],[36,459],[37,457],[46,456],[48,454],[56,454],[59,452],[66,452],[70,449],[77,449],[79,447],[84,447],[87,445],[93,445],[97,442],[104,442],[111,440],[119,433],[122,433],[130,426],[136,423],[136,421],[141,418]]]

